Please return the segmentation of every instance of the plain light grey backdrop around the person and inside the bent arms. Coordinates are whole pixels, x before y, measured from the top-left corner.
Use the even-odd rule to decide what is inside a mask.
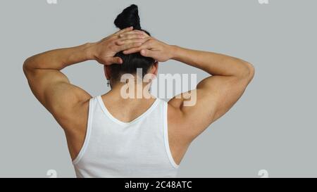
[[[139,6],[142,27],[157,39],[216,51],[253,63],[246,93],[189,148],[179,177],[317,177],[315,0],[1,1],[0,177],[74,177],[63,130],[31,94],[25,58],[97,41],[116,31],[113,20]],[[96,96],[107,91],[102,66],[63,72]],[[161,73],[206,73],[168,61]]]

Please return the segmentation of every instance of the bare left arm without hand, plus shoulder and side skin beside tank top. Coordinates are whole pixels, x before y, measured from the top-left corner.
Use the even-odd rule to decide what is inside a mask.
[[[89,60],[91,44],[40,53],[25,60],[23,71],[32,93],[54,116],[64,129],[68,148],[75,158],[82,138],[85,138],[88,104],[91,97],[86,91],[70,84],[60,70],[74,63]]]

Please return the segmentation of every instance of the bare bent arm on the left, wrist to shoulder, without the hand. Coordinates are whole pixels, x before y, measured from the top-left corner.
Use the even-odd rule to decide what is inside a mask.
[[[83,44],[46,51],[25,60],[23,71],[33,94],[54,117],[65,117],[75,105],[91,98],[85,90],[70,84],[61,72],[69,65],[92,59],[89,56],[91,46]]]

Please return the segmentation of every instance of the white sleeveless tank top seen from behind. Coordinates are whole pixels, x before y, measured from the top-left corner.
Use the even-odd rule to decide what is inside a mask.
[[[101,96],[89,101],[84,144],[73,165],[77,177],[176,177],[168,145],[166,101],[156,101],[132,122],[109,113]]]

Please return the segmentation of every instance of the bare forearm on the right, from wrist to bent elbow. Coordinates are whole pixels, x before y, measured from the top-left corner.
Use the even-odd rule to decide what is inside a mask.
[[[180,46],[172,47],[172,59],[204,70],[211,75],[244,77],[249,75],[250,70],[252,70],[251,64],[239,58],[219,53],[185,49]]]

